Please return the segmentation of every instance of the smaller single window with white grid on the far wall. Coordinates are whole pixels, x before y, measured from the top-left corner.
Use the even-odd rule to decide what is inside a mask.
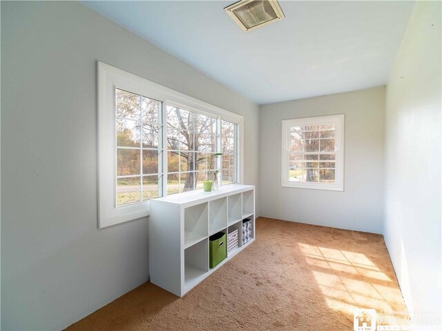
[[[343,190],[344,115],[282,121],[282,186]]]

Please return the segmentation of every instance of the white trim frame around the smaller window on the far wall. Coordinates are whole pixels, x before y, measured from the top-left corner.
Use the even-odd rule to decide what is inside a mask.
[[[336,183],[309,183],[299,181],[289,181],[289,128],[292,126],[310,126],[320,123],[334,123],[335,132],[339,134],[335,137],[336,152]],[[321,117],[309,117],[304,119],[286,119],[282,121],[281,139],[281,186],[285,188],[309,188],[313,190],[344,190],[344,127],[345,118],[343,114]]]

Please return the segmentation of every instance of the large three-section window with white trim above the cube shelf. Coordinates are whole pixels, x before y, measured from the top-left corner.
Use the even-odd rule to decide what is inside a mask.
[[[215,171],[241,183],[242,121],[99,62],[99,228],[148,216],[150,199],[198,190]]]

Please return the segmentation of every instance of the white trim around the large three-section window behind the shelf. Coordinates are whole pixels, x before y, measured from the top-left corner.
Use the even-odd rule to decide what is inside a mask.
[[[186,94],[166,88],[135,74],[97,61],[97,128],[98,128],[98,228],[124,223],[140,217],[147,217],[150,201],[140,201],[128,205],[115,205],[116,194],[116,139],[115,139],[115,88],[122,88],[162,101],[163,105],[163,151],[167,148],[167,106],[177,106],[199,114],[220,117],[238,124],[238,183],[242,183],[244,174],[244,117],[224,110],[210,103],[200,101]],[[162,185],[166,195],[167,153],[162,152]]]

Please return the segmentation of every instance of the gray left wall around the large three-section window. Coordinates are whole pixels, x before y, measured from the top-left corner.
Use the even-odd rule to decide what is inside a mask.
[[[258,183],[251,101],[81,3],[1,1],[3,330],[64,328],[148,280],[148,219],[97,230],[97,60],[243,114]]]

